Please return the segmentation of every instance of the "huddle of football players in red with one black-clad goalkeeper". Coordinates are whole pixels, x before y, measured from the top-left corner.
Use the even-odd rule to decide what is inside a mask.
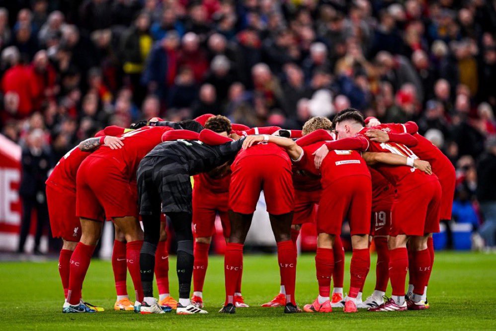
[[[303,307],[305,312],[428,308],[431,235],[439,231],[440,220],[451,219],[455,173],[417,129],[413,122],[364,121],[352,108],[333,123],[311,118],[302,131],[250,129],[211,114],[177,123],[154,118],[130,129],[105,128],[65,155],[47,180],[53,235],[64,240],[59,259],[63,312],[102,310],[82,300],[82,287],[103,221],[111,220],[116,230],[114,309],[207,313],[202,292],[217,214],[227,242],[226,299],[220,312],[248,307],[241,294],[243,246],[262,190],[277,242],[281,284],[280,293],[263,307],[302,311],[295,298],[296,240],[302,224],[315,222],[319,293]],[[177,239],[178,301],[168,290],[164,214]],[[353,248],[345,297],[344,220]],[[372,240],[376,286],[362,301]],[[134,303],[126,292],[126,269],[136,292]],[[390,298],[385,296],[389,280]]]

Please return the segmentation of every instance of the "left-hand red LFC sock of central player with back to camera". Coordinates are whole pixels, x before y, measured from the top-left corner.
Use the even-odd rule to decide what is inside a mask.
[[[292,244],[291,244],[292,245]],[[227,304],[234,304],[234,293],[243,272],[243,244],[228,243],[224,256],[224,277]]]

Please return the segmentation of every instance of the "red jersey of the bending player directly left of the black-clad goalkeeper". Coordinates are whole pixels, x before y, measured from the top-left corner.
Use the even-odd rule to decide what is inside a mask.
[[[102,146],[89,157],[112,160],[123,175],[132,180],[136,177],[141,159],[162,142],[162,135],[168,130],[173,129],[168,126],[144,126],[121,135],[125,138],[121,149],[112,150]]]

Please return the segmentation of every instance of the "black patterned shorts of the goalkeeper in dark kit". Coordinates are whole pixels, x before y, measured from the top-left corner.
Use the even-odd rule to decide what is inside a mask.
[[[145,157],[136,177],[140,215],[192,213],[191,180],[184,163],[177,158]]]

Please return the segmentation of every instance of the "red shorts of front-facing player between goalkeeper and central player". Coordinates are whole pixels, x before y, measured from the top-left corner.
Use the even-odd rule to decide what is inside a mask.
[[[215,231],[215,217],[219,214],[225,238],[231,234],[229,223],[229,192],[214,193],[193,188],[193,227],[195,237],[210,237]]]

